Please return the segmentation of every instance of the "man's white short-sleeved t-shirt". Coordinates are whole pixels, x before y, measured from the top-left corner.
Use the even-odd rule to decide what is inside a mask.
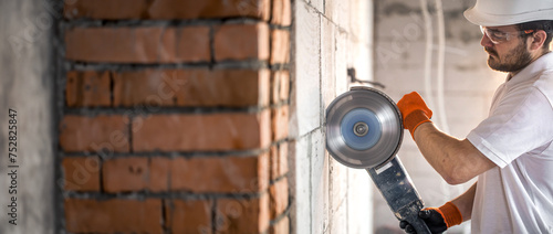
[[[478,177],[472,233],[553,233],[553,53],[508,78],[467,139],[498,166]]]

